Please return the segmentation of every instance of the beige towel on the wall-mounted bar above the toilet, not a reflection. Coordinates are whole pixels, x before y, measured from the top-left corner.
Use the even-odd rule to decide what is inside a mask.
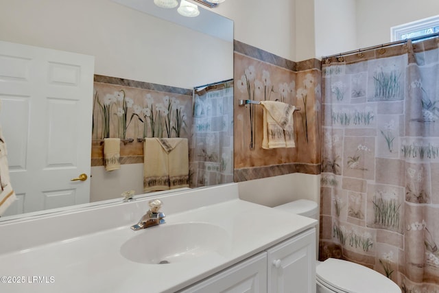
[[[293,113],[295,106],[274,101],[261,101],[263,106],[262,148],[294,148]]]

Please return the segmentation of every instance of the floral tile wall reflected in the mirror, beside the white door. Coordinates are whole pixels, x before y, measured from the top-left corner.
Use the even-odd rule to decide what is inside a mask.
[[[92,166],[104,165],[106,137],[124,140],[121,164],[143,163],[138,139],[190,137],[191,89],[95,75],[94,94]]]

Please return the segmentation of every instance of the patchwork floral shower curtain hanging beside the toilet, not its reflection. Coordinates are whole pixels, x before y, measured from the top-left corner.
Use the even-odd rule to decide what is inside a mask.
[[[320,259],[439,292],[436,38],[322,60]]]

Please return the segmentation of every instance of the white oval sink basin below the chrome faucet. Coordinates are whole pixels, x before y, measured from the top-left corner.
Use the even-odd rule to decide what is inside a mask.
[[[120,251],[123,257],[137,263],[178,263],[224,255],[228,244],[224,228],[202,222],[161,224],[136,233]]]

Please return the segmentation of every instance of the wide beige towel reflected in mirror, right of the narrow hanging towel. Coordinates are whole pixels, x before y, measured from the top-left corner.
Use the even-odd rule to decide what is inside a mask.
[[[189,187],[187,139],[145,138],[143,191]]]

